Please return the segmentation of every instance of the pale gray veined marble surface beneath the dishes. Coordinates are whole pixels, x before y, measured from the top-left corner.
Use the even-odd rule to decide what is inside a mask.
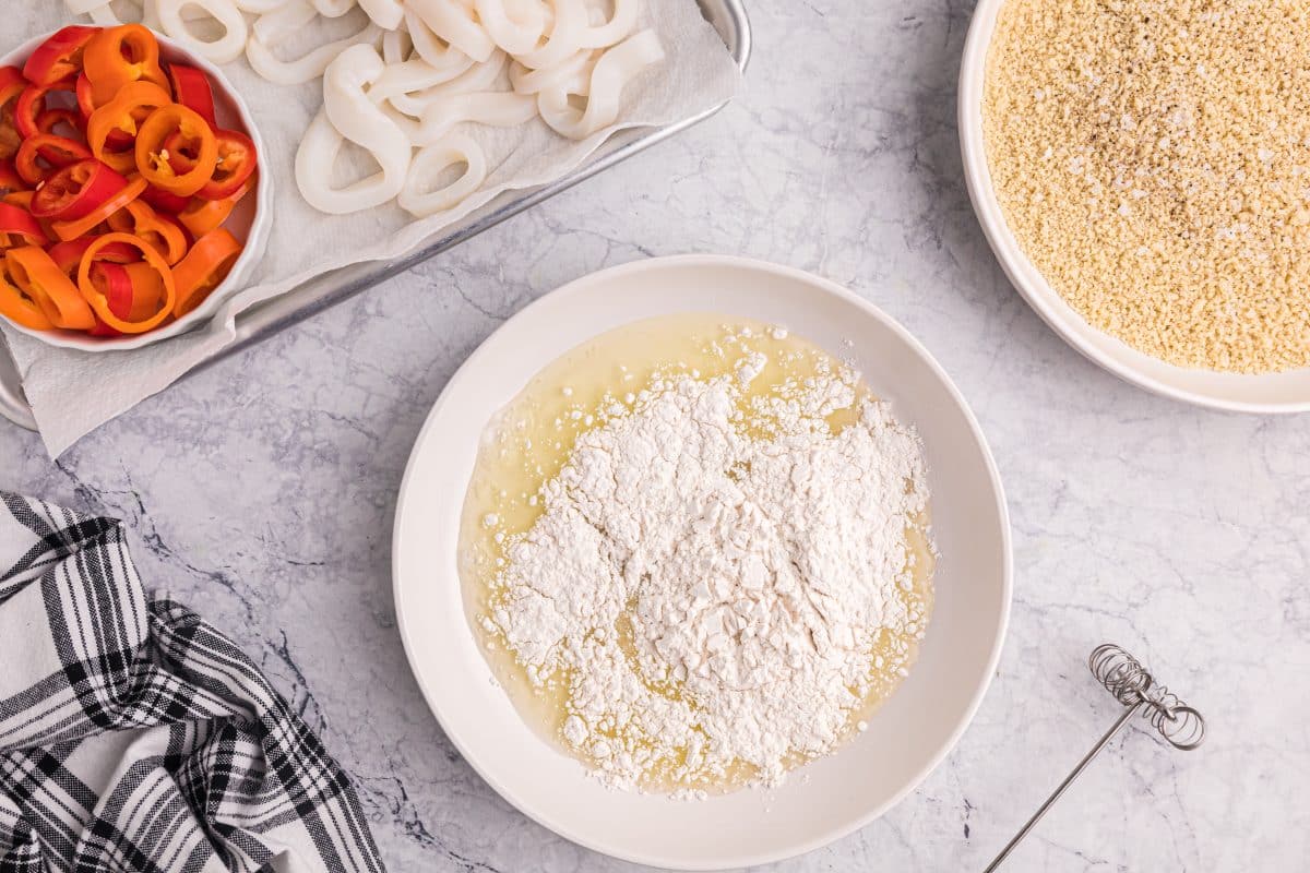
[[[126,518],[152,584],[263,664],[354,774],[392,870],[621,870],[529,822],[423,704],[396,633],[403,465],[465,356],[552,288],[656,254],[745,254],[905,323],[990,440],[1015,533],[1005,656],[948,760],[777,870],[977,870],[1116,715],[1083,661],[1137,652],[1209,717],[1132,730],[1013,870],[1285,870],[1310,856],[1310,428],[1095,369],[1006,283],[968,205],[968,0],[752,0],[748,93],[681,139],[216,366],[55,463],[0,424],[0,487]]]

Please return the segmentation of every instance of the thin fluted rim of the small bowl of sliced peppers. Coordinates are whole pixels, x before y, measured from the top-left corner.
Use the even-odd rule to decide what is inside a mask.
[[[0,67],[10,64],[22,67],[22,62],[25,62],[31,52],[41,46],[41,43],[56,33],[59,33],[59,30],[51,30],[50,33],[38,34],[31,39],[28,39],[21,46],[0,58]],[[263,136],[259,134],[259,127],[255,124],[254,115],[250,113],[250,107],[246,105],[245,98],[240,94],[240,92],[237,92],[236,88],[232,86],[232,82],[223,73],[223,71],[219,69],[219,67],[216,67],[212,62],[195,54],[176,39],[153,30],[151,33],[156,39],[159,39],[161,55],[173,54],[183,58],[189,65],[203,71],[204,75],[214,82],[215,90],[221,92],[223,97],[232,102],[232,106],[237,110],[237,116],[241,119],[241,126],[245,128],[244,132],[250,137],[250,141],[254,143],[255,154],[259,156],[262,164],[263,156],[267,154]],[[236,263],[232,264],[228,277],[224,279],[217,288],[211,291],[210,296],[206,297],[199,306],[177,321],[170,322],[164,327],[145,331],[144,334],[128,334],[123,336],[89,336],[80,331],[31,330],[9,319],[4,319],[4,323],[21,334],[31,336],[33,339],[39,339],[47,346],[71,348],[79,352],[126,352],[135,348],[143,348],[165,339],[172,339],[174,336],[181,336],[182,334],[195,330],[196,327],[211,321],[227,298],[241,289],[242,283],[248,277],[246,274],[249,274],[250,270],[254,268],[255,263],[258,263],[258,260],[263,257],[263,246],[267,242],[269,234],[269,221],[272,213],[272,179],[269,173],[259,173],[259,185],[257,186],[254,194],[254,219],[250,224],[250,233],[246,236],[241,255],[237,258]]]

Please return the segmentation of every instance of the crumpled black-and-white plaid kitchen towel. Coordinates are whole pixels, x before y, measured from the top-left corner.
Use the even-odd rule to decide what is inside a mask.
[[[359,800],[121,522],[0,492],[0,872],[381,870]]]

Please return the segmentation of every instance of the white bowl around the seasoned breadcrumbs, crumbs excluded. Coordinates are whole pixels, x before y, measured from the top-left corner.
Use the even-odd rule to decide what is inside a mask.
[[[1310,369],[1260,376],[1186,369],[1144,355],[1093,327],[1041,276],[1014,238],[997,202],[982,140],[982,82],[996,17],[1005,0],[979,0],[960,63],[959,128],[964,178],[979,223],[1010,281],[1065,342],[1115,376],[1155,394],[1239,412],[1310,410]]]

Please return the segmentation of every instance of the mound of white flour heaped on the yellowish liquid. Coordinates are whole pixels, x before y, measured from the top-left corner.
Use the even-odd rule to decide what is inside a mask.
[[[880,628],[922,632],[895,590],[927,500],[917,435],[820,377],[753,401],[752,438],[757,373],[659,382],[584,433],[508,550],[489,628],[565,685],[565,741],[613,787],[743,763],[776,785],[848,734]],[[833,436],[824,416],[852,407]]]

